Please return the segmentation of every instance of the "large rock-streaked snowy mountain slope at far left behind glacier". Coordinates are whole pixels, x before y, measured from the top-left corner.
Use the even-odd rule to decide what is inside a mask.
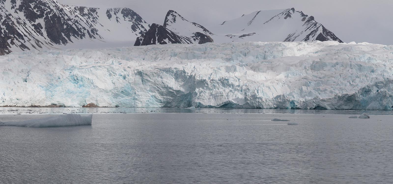
[[[55,0],[2,0],[0,20],[0,55],[72,43],[134,41],[149,29],[128,8],[69,6]]]

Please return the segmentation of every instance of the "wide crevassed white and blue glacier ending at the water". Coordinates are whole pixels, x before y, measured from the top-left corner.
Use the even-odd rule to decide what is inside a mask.
[[[392,110],[393,46],[246,42],[13,52],[0,106]]]

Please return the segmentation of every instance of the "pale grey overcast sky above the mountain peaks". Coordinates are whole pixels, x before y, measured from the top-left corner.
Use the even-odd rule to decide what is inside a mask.
[[[163,24],[169,9],[209,25],[258,10],[286,9],[314,16],[344,42],[393,45],[393,0],[58,0],[88,7],[128,7],[149,24]]]

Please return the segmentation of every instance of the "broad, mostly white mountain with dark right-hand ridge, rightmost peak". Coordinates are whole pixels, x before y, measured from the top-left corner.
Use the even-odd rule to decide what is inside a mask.
[[[256,11],[211,27],[217,42],[338,41],[313,16],[291,9]]]

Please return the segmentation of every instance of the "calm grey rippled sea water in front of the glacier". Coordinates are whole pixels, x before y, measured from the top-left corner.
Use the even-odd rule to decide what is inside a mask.
[[[94,115],[91,126],[0,126],[0,183],[391,184],[393,115],[348,118],[363,112],[3,107],[0,121]]]

